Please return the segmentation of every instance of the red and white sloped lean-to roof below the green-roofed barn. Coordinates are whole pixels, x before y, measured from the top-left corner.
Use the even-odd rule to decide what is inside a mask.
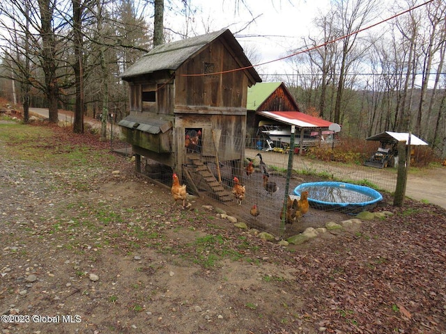
[[[299,111],[257,111],[256,113],[266,118],[297,127],[328,128],[332,124],[328,120],[307,115],[306,113],[300,113]]]

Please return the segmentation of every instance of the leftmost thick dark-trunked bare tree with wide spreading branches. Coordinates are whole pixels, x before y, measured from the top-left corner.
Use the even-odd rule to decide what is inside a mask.
[[[24,104],[29,102],[28,92],[38,90],[45,95],[42,104],[49,109],[50,122],[59,121],[61,91],[71,86],[66,72],[70,53],[64,9],[56,9],[54,1],[47,0],[11,0],[0,5],[0,33],[8,41],[8,47],[2,44],[0,48],[15,50],[15,54],[5,52],[14,74],[11,79],[22,84]]]

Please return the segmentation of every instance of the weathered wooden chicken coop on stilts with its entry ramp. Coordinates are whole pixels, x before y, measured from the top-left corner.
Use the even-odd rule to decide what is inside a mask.
[[[242,69],[242,70],[237,70]],[[247,90],[261,79],[229,29],[159,45],[121,78],[130,114],[121,120],[137,157],[172,168],[188,190],[229,197],[208,163],[243,164]]]

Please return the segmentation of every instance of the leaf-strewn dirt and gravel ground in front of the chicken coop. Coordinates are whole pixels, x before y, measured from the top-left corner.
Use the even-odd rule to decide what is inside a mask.
[[[20,153],[85,140],[60,131],[0,139],[2,334],[445,333],[441,207],[385,196],[390,218],[278,246],[216,210],[240,218],[236,206],[181,209],[107,145],[89,142],[82,168]]]

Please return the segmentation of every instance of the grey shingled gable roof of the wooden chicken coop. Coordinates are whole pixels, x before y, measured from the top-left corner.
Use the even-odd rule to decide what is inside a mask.
[[[213,33],[206,33],[205,35],[158,45],[128,67],[120,77],[127,81],[131,77],[138,77],[160,70],[177,70],[187,59],[198,54],[206,45],[217,38],[224,38],[224,41],[231,47],[234,54],[242,63],[242,67],[252,66],[245,56],[243,48],[240,47],[240,44],[238,44],[231,31],[229,29],[222,29]],[[252,75],[254,80],[261,81],[254,67],[247,68],[247,71]]]

